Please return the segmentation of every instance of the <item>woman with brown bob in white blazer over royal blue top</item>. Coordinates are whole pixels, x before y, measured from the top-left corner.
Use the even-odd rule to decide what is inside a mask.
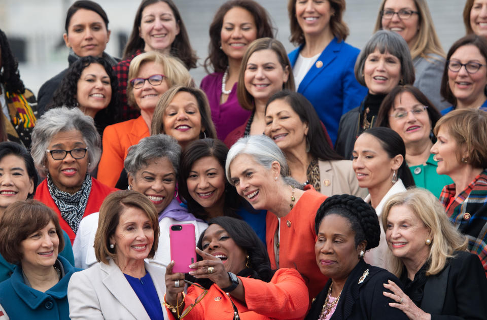
[[[71,319],[162,319],[165,269],[145,262],[157,251],[154,204],[132,190],[110,194],[100,207],[97,264],[76,272],[67,298]]]

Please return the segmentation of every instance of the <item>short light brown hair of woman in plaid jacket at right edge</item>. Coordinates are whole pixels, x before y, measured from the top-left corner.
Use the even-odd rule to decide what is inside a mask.
[[[466,147],[465,161],[474,168],[487,168],[487,113],[480,109],[452,110],[441,117],[433,129],[435,136],[440,127],[453,136],[459,147]],[[462,158],[462,148],[457,149],[457,160]]]

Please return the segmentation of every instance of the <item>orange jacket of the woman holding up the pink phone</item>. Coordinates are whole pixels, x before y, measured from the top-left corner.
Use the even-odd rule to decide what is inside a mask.
[[[303,319],[308,310],[309,299],[303,278],[294,269],[279,269],[270,282],[258,279],[238,277],[245,288],[245,304],[235,298],[228,297],[217,285],[208,290],[208,294],[195,305],[184,317],[185,320],[233,319],[231,301],[238,310],[242,320],[270,319]],[[185,306],[194,303],[203,292],[191,286],[184,299]],[[167,309],[169,319],[175,314]]]

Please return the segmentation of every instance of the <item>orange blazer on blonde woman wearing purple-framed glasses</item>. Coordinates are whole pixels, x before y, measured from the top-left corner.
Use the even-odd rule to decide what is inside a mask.
[[[115,187],[128,148],[149,135],[149,128],[142,116],[107,126],[103,130],[103,153],[96,179],[109,187]]]

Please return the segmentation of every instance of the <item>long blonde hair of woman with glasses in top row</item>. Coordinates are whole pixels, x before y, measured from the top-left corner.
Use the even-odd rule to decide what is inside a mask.
[[[375,21],[374,32],[382,29],[382,16],[380,12],[384,10],[384,5],[387,0],[382,0],[379,7],[379,12],[377,14],[377,20]],[[416,8],[418,8],[418,23],[419,30],[416,40],[412,45],[410,50],[411,59],[414,60],[416,57],[420,56],[426,59],[436,59],[429,54],[434,53],[441,57],[445,57],[445,52],[441,46],[438,34],[436,34],[436,29],[433,24],[433,18],[431,18],[430,9],[428,8],[428,3],[426,0],[414,0]]]

